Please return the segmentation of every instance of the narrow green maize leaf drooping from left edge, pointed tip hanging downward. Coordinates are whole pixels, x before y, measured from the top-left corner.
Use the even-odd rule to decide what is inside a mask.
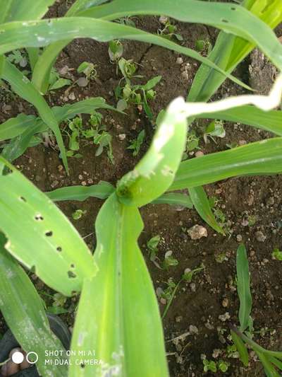
[[[10,83],[13,91],[20,95],[27,102],[32,103],[32,105],[37,108],[42,120],[48,124],[51,130],[54,132],[56,141],[58,143],[59,149],[61,151],[61,156],[63,160],[63,165],[68,172],[68,161],[66,158],[66,149],[63,145],[63,139],[61,136],[61,131],[59,129],[59,124],[54,117],[53,112],[49,108],[49,105],[44,100],[42,95],[37,91],[35,86],[27,79],[26,76],[22,74],[20,70],[13,66],[10,62],[6,61],[3,70],[3,79]]]

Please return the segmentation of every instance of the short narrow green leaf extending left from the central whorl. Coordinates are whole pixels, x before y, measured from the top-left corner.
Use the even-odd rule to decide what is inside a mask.
[[[83,202],[89,197],[106,199],[114,190],[114,186],[111,183],[101,181],[97,185],[62,187],[51,192],[45,192],[45,194],[54,202],[63,200],[78,200]]]

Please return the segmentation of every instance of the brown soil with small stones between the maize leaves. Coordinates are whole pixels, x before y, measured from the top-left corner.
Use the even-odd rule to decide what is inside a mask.
[[[53,16],[64,13],[64,2],[61,1],[59,11],[54,9]],[[63,7],[63,8],[61,8]],[[56,13],[56,12],[59,13]],[[156,32],[159,28],[158,18],[135,19],[138,27]],[[178,24],[181,35],[185,40],[184,45],[194,47],[197,39],[209,38],[214,42],[215,32],[202,25]],[[176,64],[179,56],[161,47],[146,45],[137,42],[123,42],[124,56],[133,59],[140,64],[138,74],[142,74],[145,80],[161,74],[161,83],[157,86],[157,98],[152,101],[154,115],[165,108],[168,103],[178,95],[185,96],[190,88],[192,79],[197,71],[197,62],[183,57],[183,64],[190,63],[188,70],[189,79],[181,75],[181,65]],[[244,62],[243,68],[238,72],[244,73],[249,64],[257,64],[256,55]],[[92,81],[89,88],[73,89],[77,100],[87,96],[102,96],[107,102],[115,105],[114,88],[120,77],[116,76],[116,66],[110,64],[108,45],[97,43],[92,40],[75,40],[68,45],[61,53],[57,68],[68,66],[76,69],[80,63],[88,61],[97,64],[99,81]],[[73,71],[74,76],[75,71]],[[247,72],[248,74],[248,72]],[[265,75],[268,78],[267,75]],[[252,77],[251,77],[252,79]],[[250,80],[251,81],[251,80]],[[264,86],[269,82],[262,83]],[[63,105],[63,91],[57,91],[55,95],[49,96],[50,105]],[[227,82],[219,91],[219,96],[226,93],[242,93],[238,86]],[[11,112],[1,114],[1,120],[5,120],[18,113],[19,102],[23,104],[25,112],[31,112],[30,107],[17,99],[12,102]],[[71,103],[71,100],[68,101]],[[3,105],[3,103],[2,103]],[[71,174],[67,176],[59,171],[61,160],[58,152],[47,149],[44,146],[37,146],[26,151],[25,155],[16,161],[15,165],[30,178],[37,187],[43,191],[53,190],[54,187],[68,185],[79,185],[85,181],[97,183],[99,180],[107,180],[115,183],[116,180],[128,170],[133,168],[149,146],[154,129],[143,112],[138,112],[133,106],[127,111],[127,115],[119,115],[114,112],[104,112],[104,123],[110,128],[113,137],[114,158],[116,164],[113,166],[106,157],[95,157],[95,147],[81,143],[81,159],[70,158]],[[146,142],[142,146],[140,156],[133,158],[132,153],[126,149],[130,139],[137,136],[141,129],[146,131]],[[201,150],[204,153],[226,149],[226,144],[239,143],[240,141],[255,141],[270,137],[266,132],[259,132],[244,125],[226,124],[226,137],[216,139],[215,144],[210,141],[204,144],[201,141]],[[125,140],[120,141],[118,134],[126,134]],[[192,158],[192,156],[191,156]],[[82,178],[81,178],[82,176]],[[91,184],[93,184],[91,183]],[[231,344],[228,340],[228,325],[238,325],[238,296],[235,291],[235,252],[238,247],[238,240],[242,238],[247,246],[250,272],[252,278],[253,309],[255,340],[264,347],[281,349],[281,263],[271,259],[271,252],[274,248],[281,248],[281,201],[282,179],[278,176],[256,177],[256,178],[233,178],[218,182],[206,187],[209,196],[216,196],[219,199],[218,208],[226,215],[226,221],[230,228],[229,236],[221,236],[209,228],[197,215],[195,210],[184,209],[176,211],[173,207],[166,205],[149,205],[141,209],[145,223],[145,229],[140,237],[140,246],[147,260],[147,266],[151,273],[154,286],[166,288],[169,278],[178,282],[185,268],[193,269],[204,265],[204,272],[200,272],[192,279],[192,284],[182,283],[171,304],[171,308],[164,319],[164,332],[166,338],[166,349],[168,352],[168,364],[173,377],[187,376],[212,376],[213,373],[203,372],[201,355],[205,354],[207,359],[213,359],[215,349],[220,349],[218,359],[224,359],[231,363],[226,376],[264,376],[262,366],[252,359],[249,368],[243,368],[238,359],[228,358],[226,347]],[[87,244],[94,248],[94,220],[97,216],[102,201],[99,199],[88,199],[85,202],[64,202],[59,204],[63,212],[72,220],[71,214],[75,209],[85,209],[87,214],[82,219],[73,221],[80,231],[81,236],[87,236]],[[255,216],[255,224],[250,226],[245,219]],[[191,240],[187,229],[195,224],[205,226],[208,237],[201,240]],[[262,231],[266,240],[259,242],[255,236],[257,231]],[[161,236],[159,246],[159,259],[164,259],[168,250],[173,250],[173,256],[178,260],[178,266],[170,267],[168,270],[158,269],[148,258],[146,242],[152,236]],[[222,263],[216,262],[216,255],[226,253],[226,260]],[[36,282],[36,279],[35,279]],[[36,285],[40,284],[38,281]],[[223,299],[226,307],[223,307]],[[69,301],[66,303],[68,307]],[[164,311],[164,304],[160,303],[161,311]],[[230,319],[222,322],[219,315],[228,312]],[[73,323],[73,315],[64,315],[69,325]],[[189,334],[194,330],[194,334]],[[267,328],[265,335],[259,333],[262,328]],[[219,331],[220,330],[220,331]],[[192,331],[193,332],[193,331]],[[183,335],[181,340],[172,341],[174,338]],[[152,336],[154,336],[152,334]],[[216,360],[218,360],[216,359]],[[221,375],[220,372],[216,375]]]

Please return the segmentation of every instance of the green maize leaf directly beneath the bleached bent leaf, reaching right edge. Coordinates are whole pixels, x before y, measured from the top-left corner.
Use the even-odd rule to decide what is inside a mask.
[[[271,110],[265,112],[254,106],[240,106],[240,108],[231,108],[229,110],[204,113],[197,118],[228,120],[229,122],[240,122],[249,124],[252,127],[265,129],[276,135],[282,136],[282,111]]]

